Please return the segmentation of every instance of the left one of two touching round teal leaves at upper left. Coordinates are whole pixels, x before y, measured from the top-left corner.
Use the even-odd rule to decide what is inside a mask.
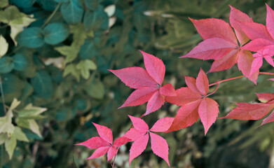
[[[43,42],[43,31],[39,27],[29,27],[16,37],[18,43],[28,48],[39,48]]]

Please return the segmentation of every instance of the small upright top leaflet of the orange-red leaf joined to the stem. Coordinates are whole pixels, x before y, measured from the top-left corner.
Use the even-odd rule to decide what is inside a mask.
[[[207,75],[203,69],[200,69],[200,72],[198,73],[198,77],[196,78],[196,86],[203,95],[206,95],[208,90],[210,90]]]

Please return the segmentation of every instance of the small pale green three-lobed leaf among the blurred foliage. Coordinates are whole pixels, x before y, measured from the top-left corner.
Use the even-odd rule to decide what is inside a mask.
[[[76,65],[76,69],[81,71],[81,75],[84,79],[88,79],[90,77],[90,70],[97,69],[97,66],[92,60],[85,59]]]

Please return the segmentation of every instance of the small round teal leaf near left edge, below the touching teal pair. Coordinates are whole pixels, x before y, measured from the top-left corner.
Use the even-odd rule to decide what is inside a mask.
[[[13,56],[13,63],[14,63],[15,70],[23,71],[27,69],[27,67],[30,64],[29,62],[30,62],[29,57],[27,57],[26,55],[22,55],[18,53]]]

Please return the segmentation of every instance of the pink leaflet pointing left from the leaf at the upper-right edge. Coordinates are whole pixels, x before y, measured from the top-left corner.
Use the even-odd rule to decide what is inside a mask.
[[[265,25],[256,22],[238,22],[238,25],[240,25],[242,31],[245,32],[248,38],[252,40],[256,38],[264,38],[268,41],[273,41],[273,38],[268,33]]]

